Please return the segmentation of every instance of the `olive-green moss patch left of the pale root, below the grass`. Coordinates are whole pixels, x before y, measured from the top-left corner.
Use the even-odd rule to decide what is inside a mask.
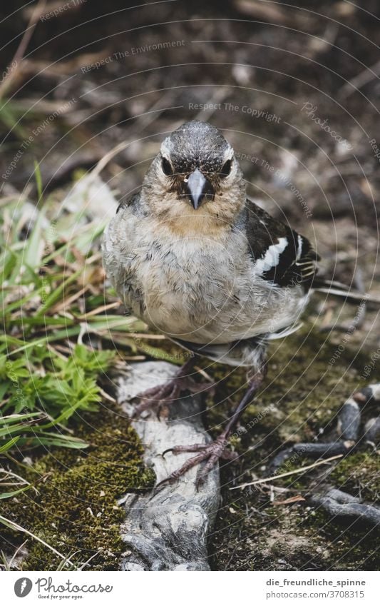
[[[38,494],[29,490],[9,503],[11,519],[81,565],[94,556],[86,570],[117,570],[123,541],[123,507],[117,499],[126,492],[149,488],[152,470],[143,466],[143,449],[120,411],[87,415],[76,435],[90,448],[53,450],[36,459],[27,474]],[[25,473],[24,473],[25,476]],[[10,542],[22,539],[6,531]],[[29,540],[23,570],[55,570],[61,558],[36,540]]]

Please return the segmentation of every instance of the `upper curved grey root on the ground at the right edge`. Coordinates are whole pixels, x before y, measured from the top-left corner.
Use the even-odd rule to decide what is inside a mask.
[[[366,405],[369,400],[380,402],[380,384],[370,385],[361,389],[346,400],[338,415],[337,440],[325,443],[299,443],[290,448],[285,448],[272,459],[269,465],[269,473],[274,473],[290,457],[307,456],[319,458],[351,453],[358,447],[361,441],[361,437],[359,437],[361,421],[359,405]],[[365,438],[366,442],[373,443],[379,430],[379,419],[372,419],[368,428],[366,427],[363,438]]]

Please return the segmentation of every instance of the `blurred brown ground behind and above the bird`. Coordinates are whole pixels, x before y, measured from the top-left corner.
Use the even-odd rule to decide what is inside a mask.
[[[376,1],[71,0],[1,13],[3,193],[26,188],[33,200],[32,158],[47,192],[126,141],[102,173],[120,200],[166,133],[211,121],[240,156],[250,196],[312,238],[336,278],[351,281],[360,256],[372,287]]]

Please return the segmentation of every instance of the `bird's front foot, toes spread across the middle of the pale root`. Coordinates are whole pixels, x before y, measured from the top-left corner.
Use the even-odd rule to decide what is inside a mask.
[[[178,453],[197,454],[188,459],[182,467],[173,471],[173,473],[170,473],[168,478],[161,480],[161,482],[159,482],[155,487],[155,490],[162,488],[166,484],[175,483],[175,481],[178,480],[181,475],[184,475],[189,469],[207,460],[202,472],[197,477],[196,487],[198,490],[200,486],[205,483],[207,474],[210,473],[210,470],[212,470],[219,459],[231,461],[237,458],[237,453],[232,453],[231,450],[227,450],[227,444],[228,440],[225,437],[225,434],[222,433],[219,438],[213,440],[209,444],[192,444],[188,446],[175,446],[174,448],[168,448],[168,450],[163,452],[163,457],[166,453],[173,453],[173,455],[178,455]]]

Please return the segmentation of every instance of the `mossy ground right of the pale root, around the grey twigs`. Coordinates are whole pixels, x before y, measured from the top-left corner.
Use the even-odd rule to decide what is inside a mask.
[[[160,343],[174,353],[173,345]],[[177,355],[180,350],[177,350]],[[304,502],[274,505],[269,490],[256,486],[230,492],[230,482],[265,478],[275,454],[297,442],[334,438],[337,413],[349,395],[366,384],[361,378],[368,362],[346,344],[334,345],[309,326],[269,347],[268,373],[257,398],[240,420],[232,438],[240,458],[222,466],[223,503],[210,537],[211,565],[216,570],[376,570],[378,547],[367,527],[332,520],[322,509]],[[220,433],[245,391],[246,371],[202,360],[217,384],[207,396],[207,428]],[[369,410],[364,411],[364,422]],[[372,415],[373,416],[373,415]],[[254,423],[252,423],[254,421]],[[273,484],[274,501],[284,501],[313,490],[322,478],[337,488],[376,500],[380,461],[375,454],[357,453],[329,466],[297,471],[312,460],[288,460],[277,473],[294,475]],[[371,464],[370,464],[371,463]]]

